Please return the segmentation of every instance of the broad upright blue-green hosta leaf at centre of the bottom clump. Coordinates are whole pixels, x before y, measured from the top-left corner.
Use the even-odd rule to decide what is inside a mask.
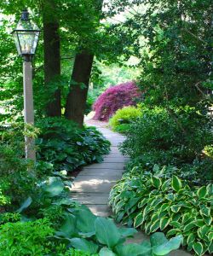
[[[95,235],[98,241],[110,248],[114,247],[121,238],[112,220],[101,217],[95,219]]]

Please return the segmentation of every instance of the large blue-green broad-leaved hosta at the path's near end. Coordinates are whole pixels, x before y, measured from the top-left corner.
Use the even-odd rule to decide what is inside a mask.
[[[150,241],[139,244],[124,244],[127,237],[137,230],[118,228],[109,218],[95,216],[87,207],[77,207],[66,213],[64,223],[55,233],[55,238],[66,239],[69,247],[100,256],[167,255],[180,247],[182,236],[168,241],[163,233],[155,233]]]

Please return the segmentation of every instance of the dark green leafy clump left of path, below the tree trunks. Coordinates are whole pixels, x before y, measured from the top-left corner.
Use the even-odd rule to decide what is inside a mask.
[[[57,171],[73,171],[79,166],[101,162],[110,143],[95,127],[79,129],[66,119],[49,118],[37,124],[37,159],[53,164]]]

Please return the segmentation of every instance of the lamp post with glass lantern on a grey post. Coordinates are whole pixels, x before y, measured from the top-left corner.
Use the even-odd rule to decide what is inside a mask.
[[[18,53],[23,58],[23,80],[24,80],[24,115],[25,123],[34,125],[33,93],[32,93],[32,58],[35,55],[40,30],[29,19],[29,13],[22,11],[20,21],[14,31],[14,43]],[[34,140],[25,137],[26,158],[36,160]]]

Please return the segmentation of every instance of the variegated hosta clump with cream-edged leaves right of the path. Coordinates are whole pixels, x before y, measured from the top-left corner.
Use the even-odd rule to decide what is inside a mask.
[[[182,235],[183,245],[198,255],[213,252],[213,185],[191,189],[172,170],[137,170],[124,174],[111,191],[110,204],[117,220],[141,227],[147,234],[162,230]],[[173,170],[175,171],[175,170]]]

